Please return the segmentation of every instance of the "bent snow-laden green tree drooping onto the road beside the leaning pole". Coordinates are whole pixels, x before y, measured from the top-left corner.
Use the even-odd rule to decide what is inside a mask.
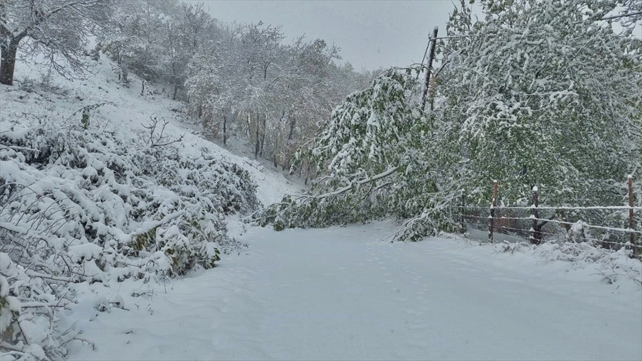
[[[315,145],[297,154],[327,175],[309,194],[268,207],[259,222],[275,229],[325,227],[393,215],[410,218],[398,238],[452,231],[453,222],[440,213],[443,202],[434,197],[435,182],[426,177],[430,122],[413,101],[420,70],[388,69],[340,103]]]

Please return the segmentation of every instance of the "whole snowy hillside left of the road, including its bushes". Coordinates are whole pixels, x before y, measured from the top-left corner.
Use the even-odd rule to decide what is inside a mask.
[[[83,305],[218,265],[245,249],[230,220],[299,189],[205,140],[162,89],[95,70],[70,84],[29,64],[0,87],[0,319],[22,334],[3,360],[65,357]]]

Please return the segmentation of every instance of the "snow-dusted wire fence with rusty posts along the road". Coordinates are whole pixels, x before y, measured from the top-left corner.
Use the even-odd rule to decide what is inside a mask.
[[[525,238],[532,244],[547,240],[591,242],[600,247],[618,250],[627,247],[632,256],[642,258],[642,225],[636,227],[632,176],[628,178],[628,206],[539,206],[539,190],[533,188],[530,206],[497,206],[498,182],[493,182],[490,206],[453,205],[462,231],[468,227],[488,231],[490,242],[495,234]]]

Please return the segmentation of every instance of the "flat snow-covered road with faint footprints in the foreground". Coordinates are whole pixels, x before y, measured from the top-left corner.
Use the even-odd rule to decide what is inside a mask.
[[[390,233],[250,229],[247,255],[86,322],[97,349],[71,358],[642,359],[632,282],[456,240],[379,242]]]

